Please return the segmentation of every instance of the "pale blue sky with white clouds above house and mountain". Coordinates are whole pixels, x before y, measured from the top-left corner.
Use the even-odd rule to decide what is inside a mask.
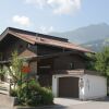
[[[109,0],[2,0],[0,33],[16,27],[37,33],[109,24]]]

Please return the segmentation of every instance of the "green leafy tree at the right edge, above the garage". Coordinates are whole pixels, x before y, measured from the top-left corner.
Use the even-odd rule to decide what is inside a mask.
[[[109,76],[109,47],[105,47],[101,52],[95,56],[95,69],[105,76]]]

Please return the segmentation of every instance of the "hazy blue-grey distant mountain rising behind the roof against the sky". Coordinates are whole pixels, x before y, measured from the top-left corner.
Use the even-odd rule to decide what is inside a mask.
[[[86,44],[98,40],[101,41],[109,37],[109,25],[106,23],[93,24],[64,33],[49,33],[53,36],[65,37],[72,43]]]

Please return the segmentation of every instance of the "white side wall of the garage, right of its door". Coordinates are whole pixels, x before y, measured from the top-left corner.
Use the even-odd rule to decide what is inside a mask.
[[[80,99],[94,99],[107,96],[107,80],[104,76],[83,75],[84,87],[80,88]]]

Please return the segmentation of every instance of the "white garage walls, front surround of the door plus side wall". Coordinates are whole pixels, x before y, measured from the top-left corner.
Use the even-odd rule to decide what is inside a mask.
[[[107,80],[104,76],[98,75],[70,75],[70,74],[56,74],[52,76],[52,93],[55,97],[59,95],[59,77],[75,76],[83,80],[83,85],[80,87],[80,99],[95,99],[107,96]],[[80,81],[81,82],[81,81]],[[83,86],[83,87],[81,87]]]

